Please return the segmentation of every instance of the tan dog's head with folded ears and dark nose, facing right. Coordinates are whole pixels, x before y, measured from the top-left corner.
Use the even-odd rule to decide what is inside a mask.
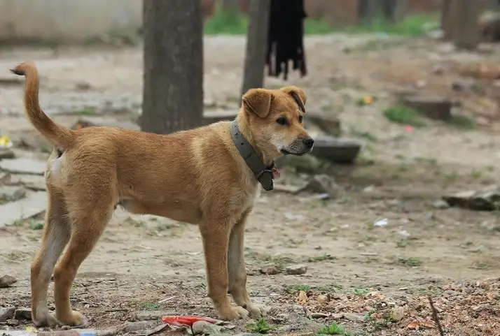
[[[295,86],[249,89],[242,99],[242,113],[255,145],[275,159],[282,154],[303,155],[314,140],[304,129],[307,96]]]

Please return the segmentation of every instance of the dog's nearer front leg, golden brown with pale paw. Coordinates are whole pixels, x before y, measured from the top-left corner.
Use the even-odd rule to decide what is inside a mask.
[[[219,319],[246,318],[249,312],[232,307],[228,299],[228,244],[231,223],[228,218],[204,221],[200,224],[207,268],[208,295],[214,302]]]

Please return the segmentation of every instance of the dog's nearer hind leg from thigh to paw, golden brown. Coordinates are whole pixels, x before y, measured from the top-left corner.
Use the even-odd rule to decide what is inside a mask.
[[[95,184],[67,198],[71,238],[54,271],[54,300],[57,321],[69,326],[83,323],[83,316],[71,309],[69,292],[81,263],[87,258],[111,219],[115,200],[109,186]],[[92,191],[89,193],[88,191]]]

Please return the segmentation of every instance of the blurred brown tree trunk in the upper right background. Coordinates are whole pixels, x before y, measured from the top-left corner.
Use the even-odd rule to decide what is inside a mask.
[[[452,0],[453,42],[457,49],[475,50],[480,41],[477,0]]]

